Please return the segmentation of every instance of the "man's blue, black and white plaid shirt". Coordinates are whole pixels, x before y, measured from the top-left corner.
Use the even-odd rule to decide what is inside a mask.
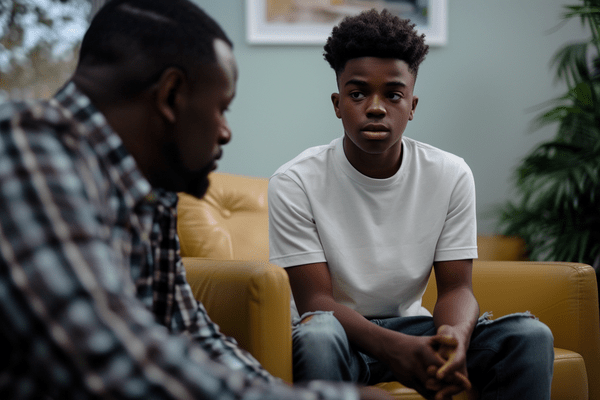
[[[357,398],[292,389],[219,332],[186,282],[176,204],[75,84],[0,105],[0,398]]]

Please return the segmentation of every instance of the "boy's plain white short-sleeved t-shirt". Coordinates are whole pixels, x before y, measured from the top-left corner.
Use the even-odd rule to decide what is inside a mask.
[[[342,138],[281,166],[269,181],[271,262],[327,262],[335,300],[366,317],[430,315],[433,262],[477,257],[475,185],[462,158],[407,137],[402,151],[387,179],[358,172]]]

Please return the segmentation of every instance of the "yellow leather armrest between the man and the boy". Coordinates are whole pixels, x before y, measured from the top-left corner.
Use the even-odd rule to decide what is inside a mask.
[[[292,382],[291,291],[286,272],[266,261],[184,257],[194,297],[221,331],[267,371]]]

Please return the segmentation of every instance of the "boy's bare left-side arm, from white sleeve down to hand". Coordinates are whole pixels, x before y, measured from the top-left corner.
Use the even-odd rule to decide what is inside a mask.
[[[388,364],[401,383],[409,387],[423,386],[429,379],[427,368],[431,365],[440,367],[445,362],[435,351],[432,338],[382,328],[337,303],[326,263],[290,267],[286,271],[301,315],[307,311],[333,311],[350,343]]]

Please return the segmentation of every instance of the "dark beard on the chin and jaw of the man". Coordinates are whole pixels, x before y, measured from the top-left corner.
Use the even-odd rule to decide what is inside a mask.
[[[168,169],[154,171],[149,178],[150,184],[155,188],[171,192],[184,192],[201,199],[208,190],[208,174],[213,169],[213,161],[198,171],[192,171],[183,165],[181,153],[175,143],[164,147]]]

